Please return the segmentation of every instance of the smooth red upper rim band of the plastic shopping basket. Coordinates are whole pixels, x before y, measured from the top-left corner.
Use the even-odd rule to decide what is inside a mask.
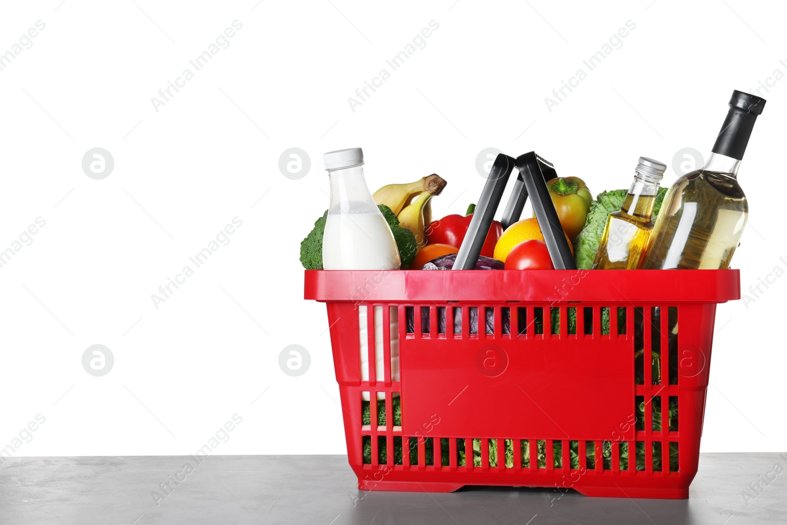
[[[386,303],[722,303],[741,298],[741,274],[739,270],[306,270],[304,298]]]

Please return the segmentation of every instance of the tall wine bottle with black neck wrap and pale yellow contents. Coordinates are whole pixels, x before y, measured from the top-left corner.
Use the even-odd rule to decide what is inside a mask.
[[[748,216],[737,169],[764,105],[763,98],[733,91],[708,163],[667,191],[642,268],[730,267]]]

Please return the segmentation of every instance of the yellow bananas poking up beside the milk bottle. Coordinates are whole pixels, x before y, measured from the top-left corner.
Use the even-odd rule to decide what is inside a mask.
[[[445,184],[445,179],[434,173],[414,183],[388,184],[375,191],[375,203],[384,204],[396,213],[401,227],[416,236],[421,250],[427,245],[425,227],[432,220],[431,198],[441,194]]]

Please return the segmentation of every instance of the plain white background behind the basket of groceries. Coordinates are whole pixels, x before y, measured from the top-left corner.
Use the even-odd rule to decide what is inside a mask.
[[[536,150],[594,194],[627,187],[640,155],[708,152],[733,89],[787,73],[784,8],[649,1],[3,6],[0,53],[36,20],[46,29],[0,71],[0,250],[36,217],[46,226],[0,268],[0,448],[40,413],[16,456],[192,453],[237,412],[216,453],[344,453],[325,309],[302,299],[298,263],[327,207],[322,153],[362,146],[372,190],[439,173],[439,217],[480,194],[490,146]],[[153,109],[233,20],[230,46]],[[427,45],[391,72],[430,20]],[[626,20],[623,46],[550,112],[545,97]],[[347,98],[381,68],[390,79],[353,112]],[[745,293],[787,268],[787,81],[769,90],[740,171]],[[115,161],[102,180],[81,167],[97,146]],[[312,161],[299,180],[278,168],[293,146]],[[235,216],[231,242],[156,309],[151,294]],[[719,306],[706,452],[784,446],[785,283]],[[93,344],[115,358],[103,377],[81,364]],[[279,369],[290,344],[311,354],[300,377]]]

